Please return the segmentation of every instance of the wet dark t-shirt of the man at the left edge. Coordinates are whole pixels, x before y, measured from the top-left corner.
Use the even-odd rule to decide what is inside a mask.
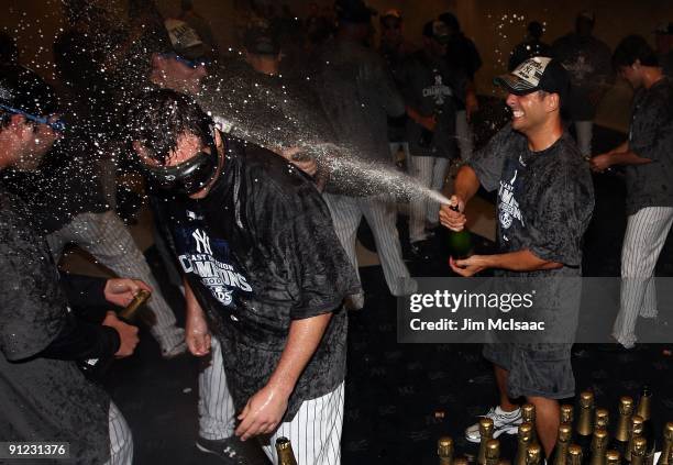
[[[74,362],[33,358],[62,331],[68,309],[27,218],[21,200],[0,190],[0,438],[69,442],[77,463],[104,463],[108,395]]]

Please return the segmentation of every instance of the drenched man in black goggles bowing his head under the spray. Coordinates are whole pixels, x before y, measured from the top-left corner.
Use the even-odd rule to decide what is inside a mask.
[[[342,300],[360,288],[320,193],[284,158],[214,130],[187,96],[148,92],[130,121],[148,178],[174,193],[159,222],[185,276],[187,345],[205,355],[219,341],[235,434],[258,436],[274,461],[286,436],[300,463],[338,464]]]

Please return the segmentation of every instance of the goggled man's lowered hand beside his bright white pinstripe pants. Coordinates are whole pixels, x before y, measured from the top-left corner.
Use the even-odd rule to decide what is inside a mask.
[[[287,410],[288,396],[266,385],[247,400],[245,408],[238,417],[241,424],[235,434],[241,441],[258,434],[269,434],[278,427]]]

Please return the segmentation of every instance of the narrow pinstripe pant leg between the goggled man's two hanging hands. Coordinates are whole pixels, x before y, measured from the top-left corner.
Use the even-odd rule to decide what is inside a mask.
[[[210,339],[210,357],[203,359],[199,370],[199,435],[207,440],[233,436],[234,405],[222,359],[222,345]]]

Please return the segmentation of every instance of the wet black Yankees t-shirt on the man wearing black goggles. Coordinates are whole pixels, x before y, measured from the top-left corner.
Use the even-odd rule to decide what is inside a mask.
[[[332,312],[290,396],[300,403],[345,376],[345,296],[358,285],[315,186],[282,157],[233,139],[217,184],[202,200],[164,204],[178,261],[223,345],[238,409],[263,388],[287,343],[290,323]]]

